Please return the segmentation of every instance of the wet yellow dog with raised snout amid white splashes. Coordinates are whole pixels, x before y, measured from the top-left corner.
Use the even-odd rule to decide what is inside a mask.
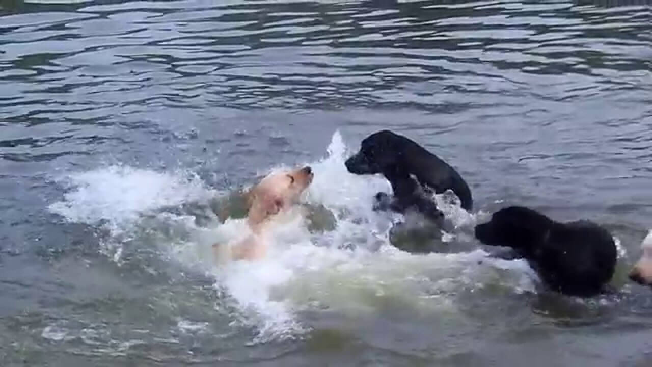
[[[287,212],[299,203],[301,194],[312,182],[312,168],[273,172],[245,193],[248,212],[246,225],[250,233],[230,246],[233,260],[256,260],[267,254],[267,229],[276,215]],[[216,257],[223,244],[213,244]]]

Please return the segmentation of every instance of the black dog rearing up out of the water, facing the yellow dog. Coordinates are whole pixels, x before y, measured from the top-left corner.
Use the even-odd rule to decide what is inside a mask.
[[[380,173],[389,180],[394,198],[377,193],[374,208],[379,210],[404,213],[414,208],[439,220],[443,214],[426,193],[443,193],[448,189],[460,198],[462,208],[471,210],[473,206],[471,190],[456,170],[413,140],[389,130],[364,138],[360,152],[346,160],[346,168],[353,174]]]

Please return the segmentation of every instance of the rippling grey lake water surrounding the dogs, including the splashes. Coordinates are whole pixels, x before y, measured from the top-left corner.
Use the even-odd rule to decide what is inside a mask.
[[[215,5],[219,3],[220,5]],[[646,1],[0,1],[3,366],[648,366]],[[389,245],[389,128],[457,167],[445,251]],[[215,266],[210,203],[310,163],[271,257]],[[512,204],[621,244],[616,295],[542,291],[473,224]]]

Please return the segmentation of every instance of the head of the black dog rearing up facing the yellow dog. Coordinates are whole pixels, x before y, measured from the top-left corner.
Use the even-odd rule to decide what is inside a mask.
[[[352,174],[387,173],[400,162],[404,136],[382,130],[367,136],[360,144],[360,151],[346,160],[346,168]]]

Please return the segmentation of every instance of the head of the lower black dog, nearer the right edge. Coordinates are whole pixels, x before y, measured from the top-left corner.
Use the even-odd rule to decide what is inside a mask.
[[[475,238],[486,245],[527,250],[546,240],[553,221],[523,206],[503,208],[487,223],[475,226]]]

